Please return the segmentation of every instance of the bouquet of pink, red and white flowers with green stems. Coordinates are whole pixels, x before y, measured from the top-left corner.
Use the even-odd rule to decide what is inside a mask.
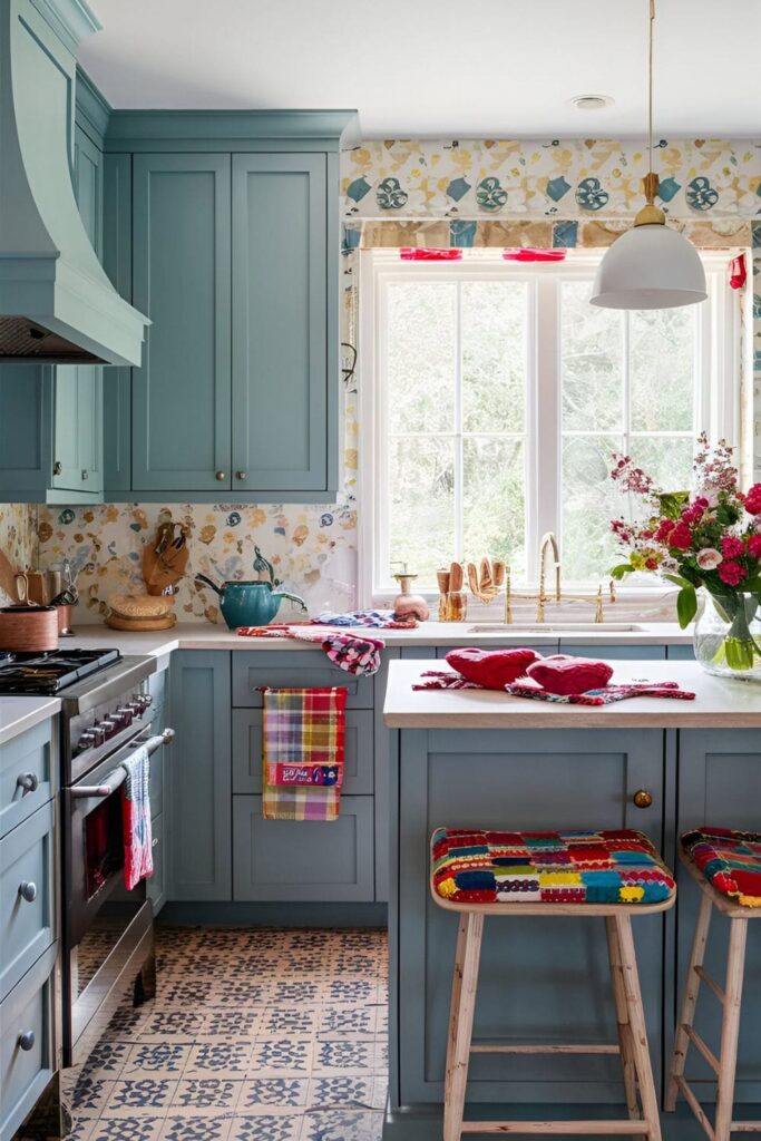
[[[612,478],[645,509],[642,523],[612,521],[629,551],[613,577],[650,570],[674,583],[682,629],[697,613],[696,590],[703,586],[728,628],[713,663],[724,666],[721,672],[754,669],[761,658],[752,630],[761,602],[761,484],[739,491],[732,448],[724,440],[711,447],[705,432],[698,437],[691,493],[662,491],[628,455],[613,460]]]

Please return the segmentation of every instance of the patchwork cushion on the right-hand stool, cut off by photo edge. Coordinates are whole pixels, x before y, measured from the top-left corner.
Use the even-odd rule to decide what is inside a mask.
[[[761,907],[761,832],[693,828],[682,848],[717,891],[746,907]]]

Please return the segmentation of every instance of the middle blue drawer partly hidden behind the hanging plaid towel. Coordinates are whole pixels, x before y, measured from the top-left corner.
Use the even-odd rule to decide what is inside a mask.
[[[261,710],[233,710],[233,792],[261,792]],[[347,710],[343,795],[372,795],[373,714]]]

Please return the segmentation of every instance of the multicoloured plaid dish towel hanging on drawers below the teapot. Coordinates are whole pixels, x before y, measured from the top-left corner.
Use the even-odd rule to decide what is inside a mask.
[[[262,816],[266,820],[335,820],[343,785],[343,687],[262,686]]]

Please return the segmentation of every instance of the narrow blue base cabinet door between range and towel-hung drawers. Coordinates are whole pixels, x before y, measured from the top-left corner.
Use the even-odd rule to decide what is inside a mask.
[[[229,654],[177,654],[170,688],[171,898],[230,899]]]

